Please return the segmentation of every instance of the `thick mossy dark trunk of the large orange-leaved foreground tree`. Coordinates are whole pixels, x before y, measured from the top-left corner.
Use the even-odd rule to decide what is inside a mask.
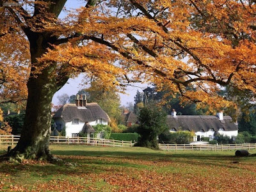
[[[51,63],[39,74],[35,74],[36,67],[43,63],[36,63],[47,50],[51,41],[43,35],[33,33],[29,36],[31,52],[31,74],[28,80],[28,100],[24,127],[17,146],[7,154],[12,159],[47,159],[52,160],[49,152],[49,138],[51,136],[51,101],[58,88],[56,85],[56,63]]]

